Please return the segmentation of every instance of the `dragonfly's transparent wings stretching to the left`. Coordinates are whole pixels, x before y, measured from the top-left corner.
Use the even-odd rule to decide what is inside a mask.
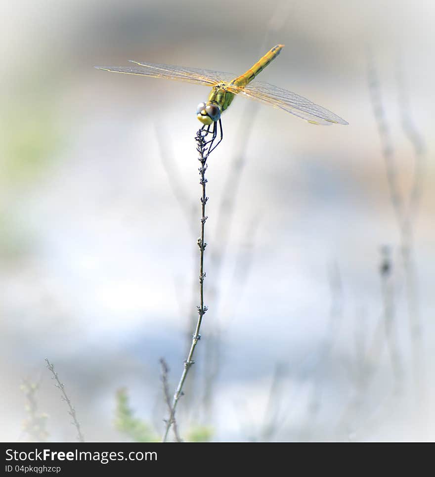
[[[221,81],[229,81],[236,77],[225,73],[200,68],[184,68],[182,66],[163,65],[157,63],[139,63],[130,60],[137,66],[95,66],[99,70],[127,73],[129,75],[149,76],[151,78],[166,78],[168,80],[185,81],[195,85],[214,86]]]

